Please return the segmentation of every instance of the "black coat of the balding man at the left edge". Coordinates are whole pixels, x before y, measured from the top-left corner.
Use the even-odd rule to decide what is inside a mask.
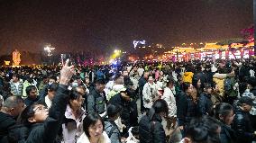
[[[9,130],[15,125],[14,117],[4,112],[0,112],[0,142],[8,143]]]

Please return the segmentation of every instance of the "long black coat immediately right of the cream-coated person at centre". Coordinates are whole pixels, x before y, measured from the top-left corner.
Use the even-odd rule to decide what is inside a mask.
[[[185,126],[192,118],[196,117],[197,106],[190,95],[184,92],[178,94],[176,104],[178,126]]]

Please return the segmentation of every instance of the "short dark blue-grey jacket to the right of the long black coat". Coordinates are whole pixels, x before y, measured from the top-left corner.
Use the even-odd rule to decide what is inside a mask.
[[[209,115],[211,113],[213,103],[211,94],[202,93],[197,102],[197,111],[199,116]]]

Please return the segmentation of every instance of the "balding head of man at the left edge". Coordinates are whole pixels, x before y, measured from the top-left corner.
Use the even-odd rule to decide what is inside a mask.
[[[16,118],[21,112],[23,112],[24,107],[25,104],[23,102],[23,98],[13,95],[5,99],[1,111],[4,111],[5,113]]]

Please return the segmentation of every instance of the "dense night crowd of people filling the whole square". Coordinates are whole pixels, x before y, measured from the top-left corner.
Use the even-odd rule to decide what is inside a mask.
[[[251,143],[256,60],[0,67],[1,143]]]

